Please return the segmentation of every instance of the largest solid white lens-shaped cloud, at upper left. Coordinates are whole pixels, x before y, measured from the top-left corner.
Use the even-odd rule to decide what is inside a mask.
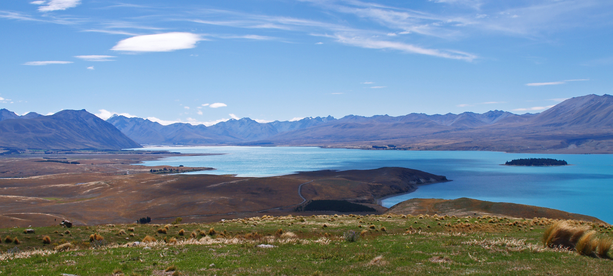
[[[166,32],[164,34],[137,35],[128,39],[120,40],[114,51],[127,52],[169,52],[196,47],[196,43],[202,40],[200,35],[191,32]]]

